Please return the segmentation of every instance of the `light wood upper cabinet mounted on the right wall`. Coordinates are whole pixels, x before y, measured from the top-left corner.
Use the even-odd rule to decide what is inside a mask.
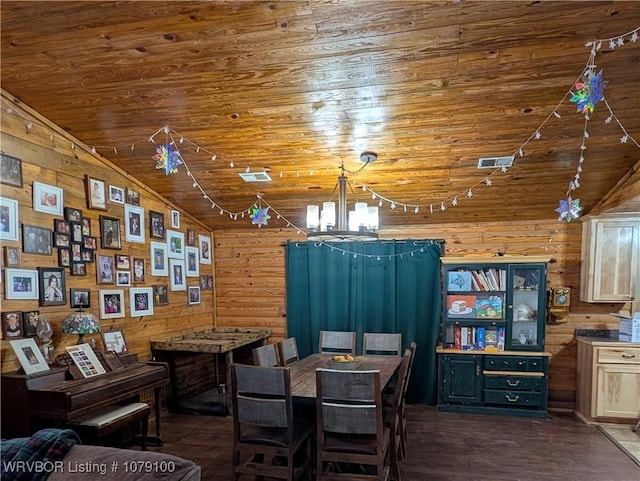
[[[640,215],[592,217],[582,225],[580,300],[628,302],[640,282]]]

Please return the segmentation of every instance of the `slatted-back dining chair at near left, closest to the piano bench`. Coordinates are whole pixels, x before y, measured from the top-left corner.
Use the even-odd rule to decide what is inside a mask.
[[[310,476],[312,421],[293,416],[288,367],[232,364],[232,478]]]

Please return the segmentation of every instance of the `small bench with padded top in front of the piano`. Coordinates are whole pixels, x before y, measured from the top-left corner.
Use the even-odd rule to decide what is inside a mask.
[[[147,450],[147,430],[151,408],[147,403],[114,405],[69,421],[83,442],[100,443],[100,439],[133,423],[140,423],[140,447]]]

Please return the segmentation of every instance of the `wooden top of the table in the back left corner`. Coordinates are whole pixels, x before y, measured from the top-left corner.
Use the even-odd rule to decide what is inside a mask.
[[[270,329],[215,328],[194,331],[167,339],[152,339],[156,351],[190,351],[220,354],[233,351],[252,342],[267,339]]]

